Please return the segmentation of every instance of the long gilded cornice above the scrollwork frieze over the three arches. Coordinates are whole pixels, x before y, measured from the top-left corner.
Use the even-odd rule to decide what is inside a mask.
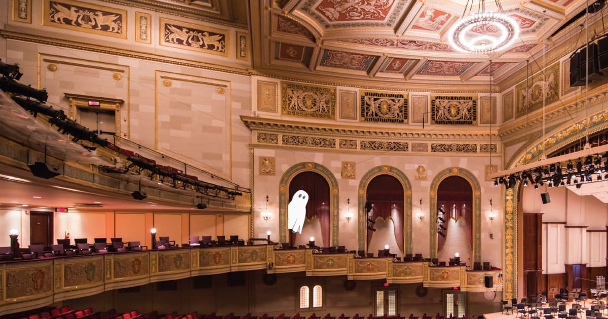
[[[241,115],[241,120],[250,130],[268,132],[296,132],[302,134],[331,135],[340,137],[381,137],[396,139],[416,139],[416,140],[492,140],[499,142],[496,130],[489,134],[489,130],[475,129],[463,132],[463,128],[445,129],[408,129],[407,131],[399,128],[378,128],[372,126],[336,125],[305,123],[290,120],[280,120],[275,118],[250,117]]]

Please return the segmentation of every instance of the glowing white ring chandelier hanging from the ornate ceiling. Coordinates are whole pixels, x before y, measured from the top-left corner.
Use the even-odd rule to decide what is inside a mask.
[[[462,18],[449,30],[450,45],[465,53],[486,54],[506,49],[519,37],[515,19],[500,12]]]

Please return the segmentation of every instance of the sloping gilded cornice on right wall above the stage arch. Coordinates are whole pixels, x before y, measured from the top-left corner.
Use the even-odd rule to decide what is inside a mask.
[[[589,91],[589,106],[596,105],[598,103],[602,103],[608,97],[608,83],[603,84],[595,89]],[[563,105],[560,101],[553,103],[553,106],[547,108],[545,110],[545,120],[551,120],[554,118],[561,118],[564,116],[568,116],[568,112],[572,113],[577,111],[578,109],[582,109],[585,107],[585,98],[586,94],[579,94],[576,97],[570,97],[568,100],[562,101]],[[508,123],[506,125],[502,125],[498,130],[498,136],[504,137],[506,135],[511,135],[515,132],[522,131],[523,129],[527,129],[530,126],[539,125],[542,123],[542,109],[534,111],[532,117],[528,117],[526,120],[525,117],[520,117],[513,123]],[[569,118],[569,117],[568,117]]]

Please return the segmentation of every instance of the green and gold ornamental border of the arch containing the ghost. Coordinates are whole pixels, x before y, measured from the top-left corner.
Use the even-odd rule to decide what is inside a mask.
[[[327,180],[327,184],[330,185],[330,228],[331,228],[331,236],[330,242],[332,246],[338,245],[338,230],[339,230],[339,220],[338,220],[338,211],[339,211],[339,195],[340,191],[338,188],[338,181],[334,176],[334,173],[331,173],[328,168],[319,164],[312,162],[302,162],[297,163],[288,170],[283,173],[281,176],[281,180],[278,184],[278,232],[279,232],[279,240],[280,242],[289,242],[289,230],[287,229],[287,205],[289,205],[289,183],[291,180],[302,172],[313,171],[315,173],[319,173],[321,176]]]

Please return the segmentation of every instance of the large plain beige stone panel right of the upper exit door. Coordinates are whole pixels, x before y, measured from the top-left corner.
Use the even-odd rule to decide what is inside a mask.
[[[229,81],[156,71],[156,150],[230,178],[231,94]]]

